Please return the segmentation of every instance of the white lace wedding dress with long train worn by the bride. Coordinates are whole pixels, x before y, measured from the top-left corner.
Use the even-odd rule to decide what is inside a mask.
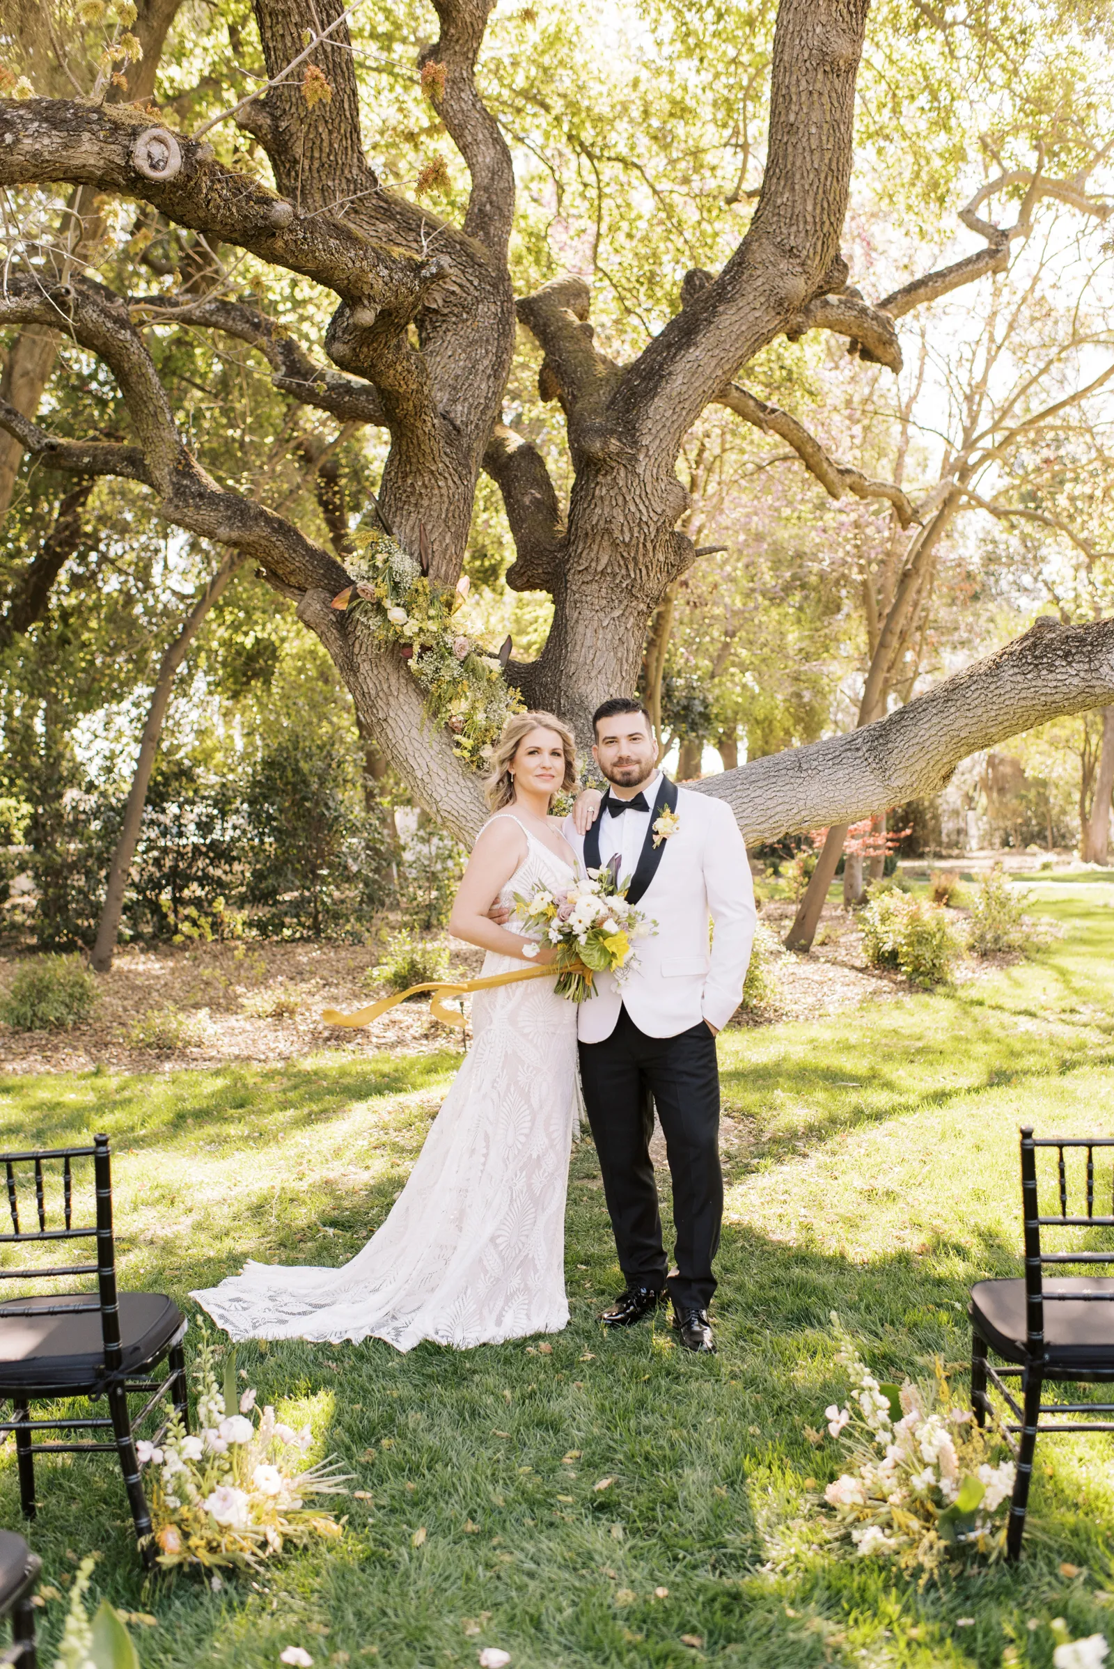
[[[527,855],[502,890],[507,906],[514,893],[529,896],[574,876],[519,826]],[[520,958],[489,951],[484,973],[522,966]],[[567,1325],[577,1008],[549,980],[477,991],[472,1033],[410,1180],[350,1263],[252,1262],[218,1287],[192,1293],[233,1339],[375,1337],[397,1350],[432,1339],[465,1350]]]

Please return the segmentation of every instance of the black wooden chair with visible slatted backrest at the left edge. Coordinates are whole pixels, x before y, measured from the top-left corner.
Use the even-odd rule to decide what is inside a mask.
[[[75,1162],[93,1162],[95,1222],[75,1227]],[[0,1303],[0,1399],[12,1402],[13,1417],[0,1420],[0,1439],[15,1437],[20,1479],[20,1502],[28,1519],[35,1517],[37,1454],[115,1454],[123,1472],[123,1487],[140,1540],[143,1562],[153,1552],[150,1512],[135,1457],[133,1427],[138,1427],[170,1392],[173,1405],[187,1420],[185,1357],[182,1339],[185,1317],[163,1293],[117,1292],[115,1240],[112,1232],[112,1157],[108,1137],[93,1137],[92,1147],[53,1148],[50,1152],[0,1153],[7,1177],[7,1203],[12,1232],[0,1233],[0,1247],[55,1247],[67,1240],[95,1240],[95,1263],[55,1263],[45,1268],[2,1267],[0,1280],[48,1280],[62,1277],[97,1277],[95,1292],[48,1292]],[[20,1227],[17,1182],[20,1167],[32,1167],[35,1202],[33,1227]],[[57,1168],[60,1167],[60,1175]],[[53,1183],[53,1187],[52,1187]],[[53,1195],[58,1192],[60,1200]],[[50,1197],[50,1200],[48,1200]],[[47,1227],[48,1205],[58,1205],[63,1227]],[[165,1379],[152,1377],[163,1362]],[[147,1397],[132,1419],[128,1397]],[[32,1419],[37,1402],[105,1400],[107,1415],[47,1414]],[[40,1442],[43,1432],[112,1432],[110,1442],[97,1437],[82,1440]],[[153,1434],[152,1442],[165,1430]]]

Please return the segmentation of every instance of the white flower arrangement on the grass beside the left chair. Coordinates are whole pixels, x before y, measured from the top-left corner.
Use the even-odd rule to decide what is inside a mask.
[[[342,1535],[344,1520],[315,1497],[347,1494],[352,1474],[339,1472],[335,1459],[307,1465],[309,1425],[292,1430],[270,1404],[260,1412],[252,1389],[237,1399],[233,1350],[222,1389],[205,1329],[200,1339],[193,1364],[200,1432],[187,1434],[168,1409],[162,1444],[137,1444],[140,1465],[158,1469],[148,1485],[158,1564],[258,1566],[287,1545]]]

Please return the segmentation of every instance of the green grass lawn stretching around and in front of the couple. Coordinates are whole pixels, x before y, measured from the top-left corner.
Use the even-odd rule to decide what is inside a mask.
[[[1064,928],[1036,961],[952,995],[722,1038],[719,1357],[685,1355],[662,1327],[602,1334],[595,1312],[619,1270],[584,1142],[567,1225],[574,1320],[552,1354],[530,1340],[409,1357],[380,1342],[240,1349],[260,1402],[310,1420],[322,1454],[370,1494],[350,1504],[339,1545],[220,1592],[145,1581],[113,1464],[57,1457],[38,1462],[43,1581],[63,1591],[75,1557],[100,1549],[98,1589],[157,1617],[133,1629],[145,1669],[257,1669],[290,1644],[315,1664],[392,1669],[475,1664],[482,1646],[514,1669],[1004,1656],[1044,1669],[1052,1617],[1114,1639],[1109,1437],[1037,1449],[1016,1569],[919,1592],[876,1561],[780,1552],[839,1470],[837,1445],[804,1435],[846,1389],[829,1312],[881,1379],[942,1357],[966,1382],[967,1288],[1019,1272],[1017,1125],[1114,1130],[1114,886],[1041,878],[1036,891]],[[402,1187],[455,1060],[8,1078],[3,1142],[107,1130],[123,1280],[193,1312],[187,1290],[247,1257],[350,1257]],[[0,1522],[20,1524],[10,1445]],[[57,1599],[40,1612],[47,1664],[62,1612]]]

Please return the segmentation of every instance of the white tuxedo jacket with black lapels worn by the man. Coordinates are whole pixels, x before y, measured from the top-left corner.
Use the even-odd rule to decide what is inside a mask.
[[[654,821],[674,794],[677,829],[654,846]],[[570,819],[564,834],[580,866],[595,868],[599,834],[594,843],[589,829],[582,840]],[[657,931],[635,941],[637,963],[622,985],[595,975],[595,995],[579,1010],[580,1041],[609,1038],[624,1003],[652,1038],[677,1036],[700,1020],[725,1026],[742,998],[755,923],[747,848],[725,801],[662,778],[627,898]]]

